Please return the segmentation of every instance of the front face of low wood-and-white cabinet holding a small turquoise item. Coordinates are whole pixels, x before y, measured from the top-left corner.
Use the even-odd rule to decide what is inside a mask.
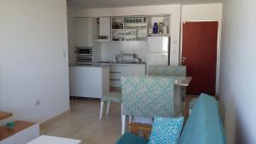
[[[31,127],[21,130],[15,135],[0,141],[0,144],[26,144],[34,140],[40,135],[39,124],[34,124]]]

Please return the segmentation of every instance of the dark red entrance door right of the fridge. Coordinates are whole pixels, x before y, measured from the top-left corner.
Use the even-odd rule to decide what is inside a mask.
[[[218,21],[183,23],[182,65],[192,81],[188,94],[215,95]]]

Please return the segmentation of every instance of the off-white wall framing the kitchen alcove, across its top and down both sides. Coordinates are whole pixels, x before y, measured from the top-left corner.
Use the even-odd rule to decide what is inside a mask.
[[[180,32],[180,4],[143,6],[143,7],[125,7],[112,9],[79,9],[68,10],[69,25],[69,48],[73,52],[73,17],[102,17],[119,15],[143,15],[143,14],[172,14],[171,16],[171,64],[178,65],[179,59],[179,32]],[[131,44],[132,45],[132,44]],[[123,47],[125,49],[126,47]],[[111,49],[111,48],[109,48]],[[140,49],[140,48],[139,48]],[[138,50],[139,50],[138,49]],[[73,62],[74,55],[70,55],[70,61]]]

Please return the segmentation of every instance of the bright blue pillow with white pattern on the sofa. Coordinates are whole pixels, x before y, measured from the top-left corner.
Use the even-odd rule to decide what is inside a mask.
[[[184,118],[155,117],[148,144],[177,144]]]

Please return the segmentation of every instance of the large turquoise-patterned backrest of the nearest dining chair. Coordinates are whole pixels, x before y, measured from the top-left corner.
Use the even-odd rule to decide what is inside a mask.
[[[175,114],[172,77],[122,77],[121,89],[125,115],[154,118]]]

